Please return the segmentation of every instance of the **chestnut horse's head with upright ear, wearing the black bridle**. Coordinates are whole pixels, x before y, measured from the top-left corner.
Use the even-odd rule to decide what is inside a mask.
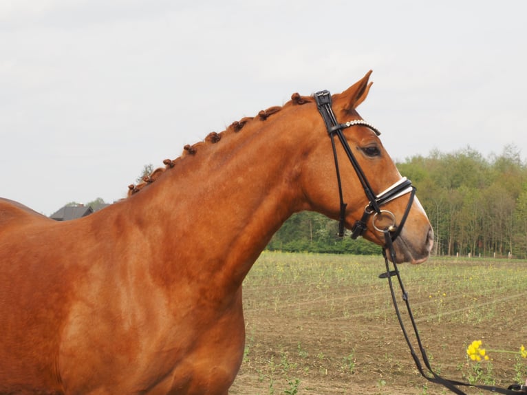
[[[390,234],[396,263],[418,264],[433,245],[427,214],[380,142],[380,133],[356,111],[372,86],[370,74],[341,94],[315,95],[319,111],[312,105],[305,116],[315,127],[310,128],[313,144],[301,171],[303,209],[340,219],[354,237],[376,244],[386,246]]]

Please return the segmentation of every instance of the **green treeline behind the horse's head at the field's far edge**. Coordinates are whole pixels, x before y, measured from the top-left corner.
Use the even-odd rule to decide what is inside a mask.
[[[527,165],[513,145],[484,158],[470,147],[432,151],[397,164],[418,189],[435,232],[435,255],[527,257]],[[364,240],[336,237],[336,222],[316,213],[293,215],[271,250],[378,253]]]

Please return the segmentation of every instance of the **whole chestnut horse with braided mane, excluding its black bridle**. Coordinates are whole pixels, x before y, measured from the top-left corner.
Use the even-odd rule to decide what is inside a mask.
[[[339,122],[361,119],[369,74],[332,96]],[[401,180],[373,129],[359,123],[345,139],[374,192]],[[340,142],[336,152],[345,158]],[[1,394],[228,394],[252,264],[292,213],[339,218],[331,139],[314,97],[294,94],[165,164],[74,221],[0,200]],[[339,164],[351,228],[369,200]],[[385,206],[398,220],[408,196]],[[396,257],[420,263],[433,233],[418,200],[406,219]],[[384,244],[372,218],[363,236]]]

